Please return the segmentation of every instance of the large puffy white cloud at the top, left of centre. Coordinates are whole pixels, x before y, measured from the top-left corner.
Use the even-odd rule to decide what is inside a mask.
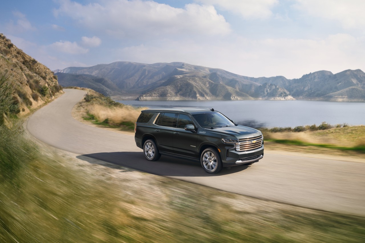
[[[161,38],[161,35],[225,35],[230,25],[213,6],[187,4],[174,8],[142,0],[105,0],[82,5],[59,1],[54,15],[68,16],[82,27],[118,37]]]

